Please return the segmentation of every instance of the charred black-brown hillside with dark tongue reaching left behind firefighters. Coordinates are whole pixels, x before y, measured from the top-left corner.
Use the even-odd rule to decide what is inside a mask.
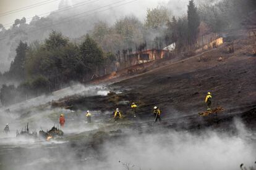
[[[140,75],[122,75],[110,81],[113,91],[106,97],[74,96],[60,100],[57,107],[72,109],[113,111],[121,108],[126,118],[131,118],[129,105],[139,105],[137,119],[152,119],[154,105],[163,110],[163,118],[195,118],[205,110],[204,98],[208,91],[213,94],[213,107],[225,109],[223,116],[244,113],[255,109],[256,103],[256,58],[255,38],[233,36],[218,49],[212,49],[182,60],[156,63]],[[229,44],[234,53],[229,54]],[[151,69],[151,70],[150,70]],[[101,82],[104,83],[104,82]],[[106,83],[106,82],[105,82]]]

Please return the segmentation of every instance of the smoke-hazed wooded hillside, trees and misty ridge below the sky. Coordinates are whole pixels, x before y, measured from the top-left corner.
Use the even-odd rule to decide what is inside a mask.
[[[76,3],[69,2],[71,6]],[[48,17],[35,16],[29,24],[23,17],[7,30],[0,25],[0,80],[20,83],[17,87],[3,86],[6,92],[1,93],[2,100],[15,90],[26,97],[39,95],[69,81],[104,75],[106,70],[116,70],[114,62],[122,62],[125,55],[135,51],[163,49],[176,42],[176,52],[180,54],[194,45],[200,23],[215,33],[239,29],[256,9],[254,0],[184,0],[139,11],[143,17],[122,15],[120,9],[113,9],[107,10],[106,15],[95,12],[73,20],[83,9],[97,6],[80,4],[79,10],[74,10],[69,4],[60,4],[59,10]],[[108,4],[106,1],[102,5]],[[179,12],[174,10],[177,4],[183,6]]]

